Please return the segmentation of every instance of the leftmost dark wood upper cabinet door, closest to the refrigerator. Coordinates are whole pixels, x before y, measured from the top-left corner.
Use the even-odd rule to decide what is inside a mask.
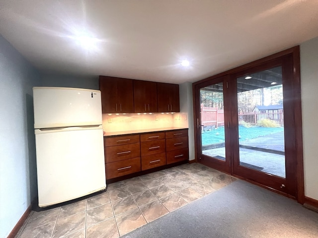
[[[117,81],[112,77],[99,76],[99,90],[101,91],[102,113],[117,113]]]

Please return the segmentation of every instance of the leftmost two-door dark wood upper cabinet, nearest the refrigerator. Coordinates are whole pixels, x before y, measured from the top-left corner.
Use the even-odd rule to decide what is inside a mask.
[[[99,76],[102,113],[134,113],[133,80]]]

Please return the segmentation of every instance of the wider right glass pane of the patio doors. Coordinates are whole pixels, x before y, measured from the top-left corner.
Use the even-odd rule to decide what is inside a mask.
[[[285,178],[281,66],[237,78],[239,165]]]

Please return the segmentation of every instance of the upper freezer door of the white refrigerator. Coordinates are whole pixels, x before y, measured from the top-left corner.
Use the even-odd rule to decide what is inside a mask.
[[[34,128],[101,125],[98,90],[34,87]]]

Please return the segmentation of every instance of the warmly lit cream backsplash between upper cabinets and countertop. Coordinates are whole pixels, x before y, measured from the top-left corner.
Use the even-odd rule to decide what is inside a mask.
[[[174,114],[103,114],[103,130],[105,132],[156,129],[163,127],[188,127],[186,113]]]

